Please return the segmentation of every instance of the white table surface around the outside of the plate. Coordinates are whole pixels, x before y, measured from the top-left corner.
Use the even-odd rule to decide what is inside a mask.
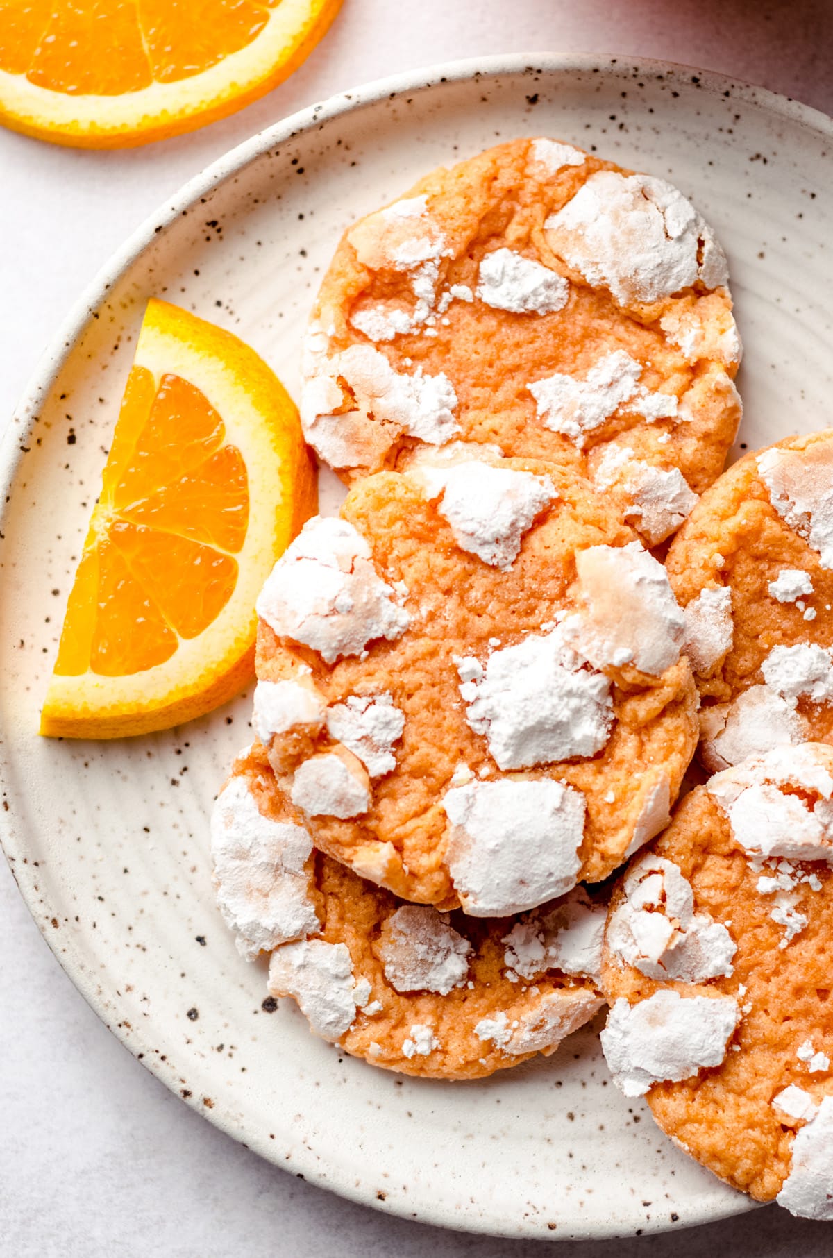
[[[277,91],[195,135],[94,153],[0,130],[0,421],[73,298],[159,203],[254,131],[395,70],[502,52],[628,53],[722,70],[833,113],[829,0],[345,0]],[[565,1258],[829,1254],[776,1206]],[[439,1232],[291,1177],[181,1105],[113,1039],[0,860],[0,1258],[520,1258],[537,1242]]]

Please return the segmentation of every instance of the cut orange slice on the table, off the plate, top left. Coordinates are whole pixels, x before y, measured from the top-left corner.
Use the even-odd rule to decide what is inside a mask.
[[[341,0],[0,0],[0,122],[121,148],[193,131],[283,82]]]

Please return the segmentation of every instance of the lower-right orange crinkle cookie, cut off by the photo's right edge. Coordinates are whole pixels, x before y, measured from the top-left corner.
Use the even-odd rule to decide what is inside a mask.
[[[610,902],[604,1053],[674,1144],[760,1201],[833,1218],[833,750],[712,776]]]

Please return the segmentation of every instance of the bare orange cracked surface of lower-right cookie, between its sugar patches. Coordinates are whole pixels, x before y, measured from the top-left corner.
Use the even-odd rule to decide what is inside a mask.
[[[824,747],[819,755],[833,767],[833,752]],[[729,932],[736,945],[732,972],[705,982],[656,980],[617,956],[608,937],[603,988],[612,1003],[630,1008],[659,991],[737,1003],[740,1021],[722,1062],[688,1079],[656,1083],[647,1101],[662,1130],[698,1162],[769,1201],[789,1175],[802,1127],[774,1099],[786,1088],[804,1089],[814,1105],[833,1094],[833,1072],[810,1072],[798,1055],[810,1039],[833,1057],[833,871],[825,862],[791,860],[789,873],[784,862],[750,859],[707,786],[696,786],[614,887],[608,931],[625,901],[627,878],[651,859],[673,863],[691,887],[693,912]],[[763,878],[778,877],[793,884],[794,911],[807,918],[785,947],[784,926],[773,916],[776,892],[759,889]]]

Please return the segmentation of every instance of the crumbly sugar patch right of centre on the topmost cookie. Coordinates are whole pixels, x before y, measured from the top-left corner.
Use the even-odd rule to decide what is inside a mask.
[[[648,421],[677,414],[673,394],[652,392],[639,384],[643,366],[624,350],[605,353],[584,377],[555,372],[527,387],[545,428],[564,433],[581,449],[588,437],[620,408]]]

